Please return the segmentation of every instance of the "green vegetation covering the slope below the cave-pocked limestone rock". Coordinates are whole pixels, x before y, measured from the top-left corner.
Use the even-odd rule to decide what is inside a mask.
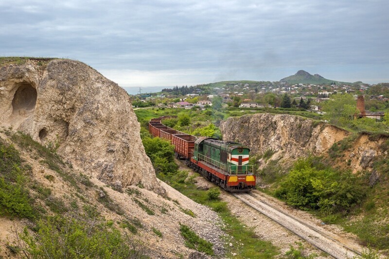
[[[0,240],[14,256],[144,258],[146,250],[143,242],[129,232],[119,230],[84,198],[86,188],[95,188],[88,177],[71,173],[69,165],[53,150],[35,142],[30,136],[10,130],[3,132],[13,144],[0,138],[0,216],[29,222],[23,228],[12,227],[13,235],[17,237],[15,241]],[[54,196],[51,188],[33,180],[31,165],[21,158],[14,145],[28,150],[42,165],[59,173],[74,188],[75,195]],[[46,174],[45,178],[55,181],[51,174]],[[112,200],[110,203],[115,207]]]

